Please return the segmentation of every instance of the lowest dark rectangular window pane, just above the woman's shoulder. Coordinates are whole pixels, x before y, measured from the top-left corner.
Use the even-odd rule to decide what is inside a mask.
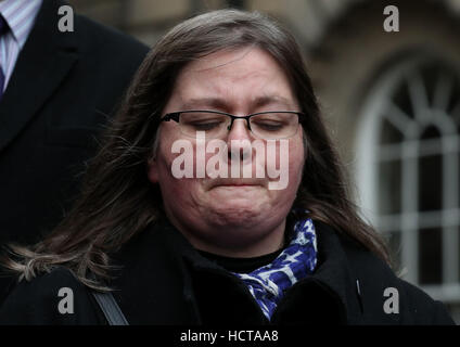
[[[442,239],[440,228],[420,230],[419,282],[421,284],[439,284],[442,282]]]

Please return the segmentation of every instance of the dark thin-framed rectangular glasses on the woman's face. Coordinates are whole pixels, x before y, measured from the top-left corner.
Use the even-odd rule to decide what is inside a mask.
[[[161,121],[177,121],[187,137],[195,138],[197,131],[204,131],[207,139],[222,139],[235,119],[245,119],[247,129],[256,138],[279,140],[293,137],[305,117],[304,113],[294,111],[268,111],[238,117],[219,111],[190,110],[168,113]]]

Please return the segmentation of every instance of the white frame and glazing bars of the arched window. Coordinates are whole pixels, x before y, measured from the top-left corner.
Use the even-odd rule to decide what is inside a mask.
[[[460,193],[459,157],[460,134],[457,127],[460,118],[460,102],[452,115],[447,113],[449,92],[457,78],[458,69],[451,64],[433,56],[412,56],[392,64],[376,79],[365,97],[360,112],[361,121],[356,137],[356,182],[362,206],[361,215],[382,232],[399,232],[401,241],[403,274],[417,285],[419,281],[419,232],[420,229],[439,227],[442,229],[442,283],[421,285],[429,294],[447,301],[460,301]],[[427,64],[452,68],[453,74],[436,80],[433,104],[430,104],[426,86],[421,70]],[[450,77],[449,77],[450,76]],[[413,115],[407,115],[393,101],[392,95],[403,82],[408,83]],[[391,112],[385,112],[385,111]],[[379,139],[386,119],[403,134],[396,144],[380,144]],[[421,140],[423,129],[434,125],[439,139]],[[419,158],[423,155],[442,155],[442,209],[420,211],[418,207]],[[400,159],[400,213],[379,216],[378,194],[380,189],[380,163]],[[455,259],[455,261],[452,261]]]

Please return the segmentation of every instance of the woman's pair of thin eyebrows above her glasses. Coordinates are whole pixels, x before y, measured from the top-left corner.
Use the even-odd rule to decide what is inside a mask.
[[[258,97],[254,101],[252,101],[252,108],[264,107],[269,104],[282,104],[288,108],[295,108],[292,101],[281,95],[264,95]],[[194,107],[212,107],[217,110],[229,110],[230,104],[220,98],[193,98],[186,101],[182,104],[184,108],[194,108]]]

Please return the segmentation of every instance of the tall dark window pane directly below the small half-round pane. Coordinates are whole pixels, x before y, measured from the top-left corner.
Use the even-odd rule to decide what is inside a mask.
[[[442,157],[439,155],[422,156],[419,159],[419,210],[437,210],[442,208]]]

